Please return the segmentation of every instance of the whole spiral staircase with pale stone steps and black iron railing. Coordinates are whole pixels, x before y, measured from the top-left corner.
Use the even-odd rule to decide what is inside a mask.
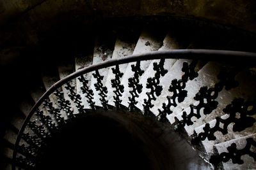
[[[68,127],[76,129],[77,121],[104,124],[104,118],[119,122],[130,133],[141,131],[141,136],[151,136],[136,138],[141,138],[141,147],[147,146],[146,155],[153,156],[148,164],[140,164],[140,153],[131,153],[136,160],[129,156],[125,162],[116,157],[113,164],[118,166],[108,166],[103,156],[90,155],[100,157],[93,162],[94,169],[256,169],[256,54],[191,50],[202,47],[188,41],[183,32],[175,31],[103,31],[95,37],[93,50],[87,56],[77,55],[56,67],[45,66],[41,79],[20,101],[19,110],[8,124],[2,139],[3,169],[81,168],[75,164],[65,166],[65,161],[79,156],[60,160],[54,157],[54,147],[65,143],[57,140],[62,139],[58,134],[65,134],[63,129]],[[99,131],[104,128],[108,129],[108,125]],[[108,143],[108,138],[100,138],[97,145]],[[52,144],[53,139],[58,142]],[[159,152],[155,145],[162,142],[162,150],[172,150]],[[92,143],[87,145],[85,151]],[[66,147],[63,150],[68,150]],[[72,153],[79,149],[83,150],[77,147]],[[129,159],[138,161],[134,163],[138,166],[129,166]],[[59,161],[58,166],[50,165],[54,161]],[[83,157],[77,161],[90,164]]]

